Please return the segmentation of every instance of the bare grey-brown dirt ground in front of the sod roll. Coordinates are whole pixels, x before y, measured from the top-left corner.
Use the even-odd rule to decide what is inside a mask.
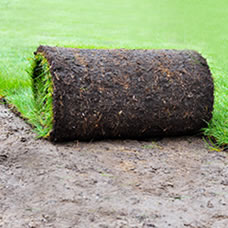
[[[228,156],[199,137],[53,145],[0,105],[0,227],[227,228]]]

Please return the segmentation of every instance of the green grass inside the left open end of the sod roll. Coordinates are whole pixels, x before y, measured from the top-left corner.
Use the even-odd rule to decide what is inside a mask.
[[[34,57],[32,70],[33,93],[35,108],[39,127],[37,134],[39,137],[48,137],[53,123],[52,95],[53,84],[49,63],[42,54]]]

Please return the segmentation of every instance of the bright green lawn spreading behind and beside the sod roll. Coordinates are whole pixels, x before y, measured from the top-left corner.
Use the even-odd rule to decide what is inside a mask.
[[[1,0],[0,94],[41,135],[31,59],[39,44],[83,48],[195,49],[215,82],[205,134],[228,144],[228,2],[226,0]]]

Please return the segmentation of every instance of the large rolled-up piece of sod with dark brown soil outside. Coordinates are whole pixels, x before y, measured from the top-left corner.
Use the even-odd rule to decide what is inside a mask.
[[[191,50],[40,46],[33,90],[51,141],[196,133],[214,100],[207,62]]]

